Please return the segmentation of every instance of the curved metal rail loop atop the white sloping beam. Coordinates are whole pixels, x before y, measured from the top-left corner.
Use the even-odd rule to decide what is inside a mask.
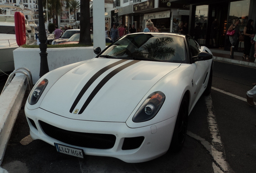
[[[29,74],[27,74],[27,72],[25,71],[21,71],[21,70],[26,70]],[[8,85],[10,84],[11,80],[12,80],[12,77],[14,76],[14,74],[16,73],[22,73],[26,76],[27,78],[27,81],[28,81],[28,85],[29,85],[29,91],[31,91],[32,89],[32,74],[31,72],[29,71],[29,69],[25,68],[25,67],[19,67],[19,68],[16,68],[8,77],[5,85],[4,85],[4,89],[2,90],[2,93],[4,92],[4,90],[8,87]],[[1,94],[2,94],[1,93]]]

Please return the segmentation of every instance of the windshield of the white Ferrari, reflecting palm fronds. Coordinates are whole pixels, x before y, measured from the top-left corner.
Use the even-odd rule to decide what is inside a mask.
[[[140,33],[124,36],[99,56],[186,63],[185,52],[182,36]]]

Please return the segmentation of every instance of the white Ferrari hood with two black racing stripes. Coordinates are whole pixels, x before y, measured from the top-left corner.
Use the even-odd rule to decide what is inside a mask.
[[[180,63],[94,58],[64,74],[40,108],[70,119],[125,122],[163,76]]]

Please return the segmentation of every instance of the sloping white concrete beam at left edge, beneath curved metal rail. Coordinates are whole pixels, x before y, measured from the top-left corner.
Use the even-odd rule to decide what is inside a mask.
[[[0,95],[0,165],[27,89],[25,80],[24,74],[16,75]]]

